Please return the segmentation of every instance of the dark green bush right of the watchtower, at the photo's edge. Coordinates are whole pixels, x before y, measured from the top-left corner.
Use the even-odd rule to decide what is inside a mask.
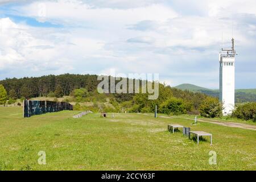
[[[239,105],[236,110],[233,111],[232,117],[245,119],[253,119],[256,121],[256,102],[249,102],[243,105]]]

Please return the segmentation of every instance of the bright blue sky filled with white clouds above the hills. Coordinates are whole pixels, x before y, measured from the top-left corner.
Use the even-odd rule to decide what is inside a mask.
[[[256,88],[255,7],[255,0],[0,0],[0,80],[115,69],[218,89],[218,52],[233,36],[236,88]]]

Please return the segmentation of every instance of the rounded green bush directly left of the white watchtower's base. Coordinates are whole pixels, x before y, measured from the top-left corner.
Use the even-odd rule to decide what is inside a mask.
[[[217,98],[206,98],[199,107],[200,115],[206,118],[222,117],[222,104]]]

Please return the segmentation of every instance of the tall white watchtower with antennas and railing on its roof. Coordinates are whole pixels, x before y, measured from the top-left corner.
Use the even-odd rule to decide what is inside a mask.
[[[234,73],[235,73],[234,38],[232,38],[232,48],[221,48],[219,54],[220,61],[220,101],[224,106],[223,114],[232,114],[234,109]]]

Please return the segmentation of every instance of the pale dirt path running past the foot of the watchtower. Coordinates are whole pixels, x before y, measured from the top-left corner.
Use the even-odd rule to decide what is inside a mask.
[[[167,117],[167,116],[159,116],[160,118],[183,118],[183,117]],[[195,119],[193,118],[183,118],[183,119],[189,119],[189,120],[192,120],[194,121]],[[200,121],[200,122],[207,122],[207,123],[213,123],[213,124],[216,124],[216,125],[221,125],[221,126],[228,126],[228,127],[238,127],[240,129],[247,129],[247,130],[255,130],[256,131],[256,126],[253,126],[253,125],[246,125],[246,124],[243,124],[243,123],[234,123],[234,122],[221,122],[221,121],[217,121],[217,120],[214,120],[214,119],[197,119],[197,121]]]

